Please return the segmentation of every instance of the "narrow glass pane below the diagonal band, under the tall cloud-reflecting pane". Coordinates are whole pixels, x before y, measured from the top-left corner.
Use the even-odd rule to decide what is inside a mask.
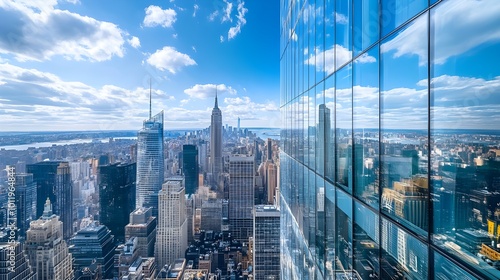
[[[354,203],[354,269],[360,279],[379,279],[379,217]]]

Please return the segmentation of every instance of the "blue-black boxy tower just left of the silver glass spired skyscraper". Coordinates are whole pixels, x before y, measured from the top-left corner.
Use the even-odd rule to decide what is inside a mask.
[[[118,242],[125,242],[125,226],[136,208],[136,172],[135,163],[99,166],[99,222]]]

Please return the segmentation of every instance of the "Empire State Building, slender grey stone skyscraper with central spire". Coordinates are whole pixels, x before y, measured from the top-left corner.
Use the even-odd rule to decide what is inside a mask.
[[[217,188],[219,175],[222,169],[222,112],[217,104],[215,93],[215,106],[212,109],[212,122],[210,124],[210,168],[212,172],[212,187]]]

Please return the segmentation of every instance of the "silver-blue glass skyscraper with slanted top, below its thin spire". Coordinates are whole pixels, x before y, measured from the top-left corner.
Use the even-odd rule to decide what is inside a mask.
[[[152,207],[158,214],[158,191],[163,183],[163,111],[143,122],[137,134],[136,207]]]

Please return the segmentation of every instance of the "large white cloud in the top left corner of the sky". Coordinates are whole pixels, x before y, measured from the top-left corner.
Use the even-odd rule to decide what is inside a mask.
[[[1,1],[0,53],[17,60],[109,60],[123,57],[124,35],[117,25],[56,9],[57,1]]]

